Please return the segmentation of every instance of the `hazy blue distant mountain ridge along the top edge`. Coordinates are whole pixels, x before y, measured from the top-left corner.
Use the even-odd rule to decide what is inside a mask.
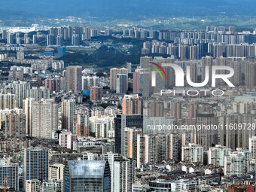
[[[211,16],[221,12],[254,16],[256,3],[254,0],[3,0],[0,9],[40,17],[82,17],[89,14],[102,19],[123,19],[130,15],[147,17],[148,14]]]

